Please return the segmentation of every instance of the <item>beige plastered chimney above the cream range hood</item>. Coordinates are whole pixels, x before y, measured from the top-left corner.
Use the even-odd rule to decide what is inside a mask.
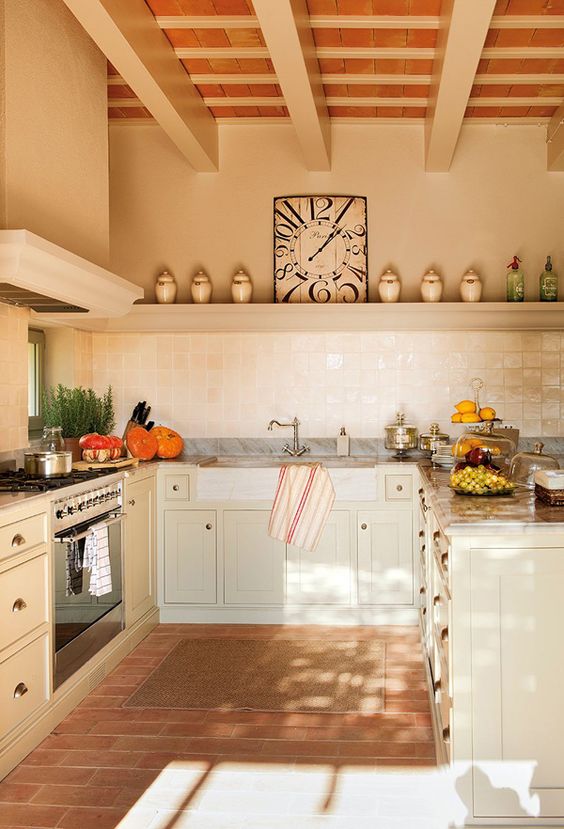
[[[106,60],[62,0],[2,3],[3,226],[27,228],[107,266]],[[1,141],[0,132],[0,162]]]

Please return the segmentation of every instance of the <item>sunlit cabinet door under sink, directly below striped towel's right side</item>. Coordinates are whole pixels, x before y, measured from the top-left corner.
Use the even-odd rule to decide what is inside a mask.
[[[351,600],[349,513],[331,512],[317,549],[288,545],[289,604],[349,604]]]

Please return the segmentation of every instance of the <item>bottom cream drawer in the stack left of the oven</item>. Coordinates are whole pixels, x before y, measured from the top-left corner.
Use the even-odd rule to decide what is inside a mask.
[[[0,663],[0,735],[15,728],[49,698],[49,637]]]

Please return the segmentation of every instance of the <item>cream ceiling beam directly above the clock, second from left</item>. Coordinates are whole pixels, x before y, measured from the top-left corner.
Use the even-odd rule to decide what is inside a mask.
[[[254,0],[308,170],[331,169],[331,125],[306,0]]]

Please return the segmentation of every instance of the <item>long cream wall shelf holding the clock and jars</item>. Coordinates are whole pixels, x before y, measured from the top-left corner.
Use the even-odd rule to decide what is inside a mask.
[[[108,332],[220,331],[564,331],[564,302],[380,302],[358,305],[134,305],[105,321],[65,320]]]

